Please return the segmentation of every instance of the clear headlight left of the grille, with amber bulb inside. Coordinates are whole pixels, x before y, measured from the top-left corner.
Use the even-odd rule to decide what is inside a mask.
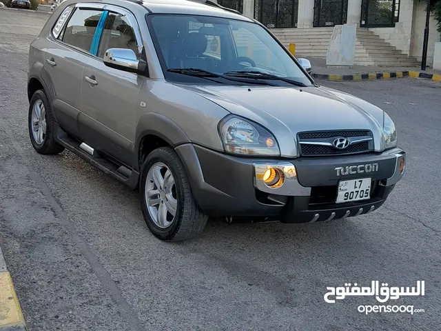
[[[257,123],[229,116],[219,123],[220,139],[229,154],[279,157],[276,138]]]

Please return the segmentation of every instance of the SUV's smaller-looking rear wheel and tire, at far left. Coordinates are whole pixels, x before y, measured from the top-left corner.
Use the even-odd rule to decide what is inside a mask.
[[[32,146],[40,154],[59,154],[64,150],[54,139],[54,123],[48,97],[38,90],[29,103],[28,130]]]

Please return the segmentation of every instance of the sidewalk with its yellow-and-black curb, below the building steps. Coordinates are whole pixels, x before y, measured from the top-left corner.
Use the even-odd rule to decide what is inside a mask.
[[[327,68],[326,59],[308,58],[312,65],[312,77],[329,81],[365,81],[413,77],[441,81],[441,70],[420,67],[353,66],[352,68]]]

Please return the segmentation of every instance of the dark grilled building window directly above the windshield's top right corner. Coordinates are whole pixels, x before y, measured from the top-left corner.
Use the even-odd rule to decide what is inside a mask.
[[[296,28],[298,0],[255,0],[254,17],[267,28]]]

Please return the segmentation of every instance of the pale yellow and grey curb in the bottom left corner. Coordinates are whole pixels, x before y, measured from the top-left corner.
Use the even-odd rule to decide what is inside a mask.
[[[0,248],[0,331],[25,331],[25,319]]]

